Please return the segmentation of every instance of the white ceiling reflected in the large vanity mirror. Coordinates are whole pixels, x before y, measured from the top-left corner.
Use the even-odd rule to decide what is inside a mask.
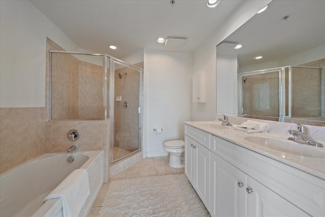
[[[237,55],[239,66],[270,63],[325,45],[325,1],[273,1],[217,46],[217,54]],[[283,17],[287,19],[283,19]],[[255,60],[254,56],[262,55]],[[323,51],[325,55],[325,50]]]

